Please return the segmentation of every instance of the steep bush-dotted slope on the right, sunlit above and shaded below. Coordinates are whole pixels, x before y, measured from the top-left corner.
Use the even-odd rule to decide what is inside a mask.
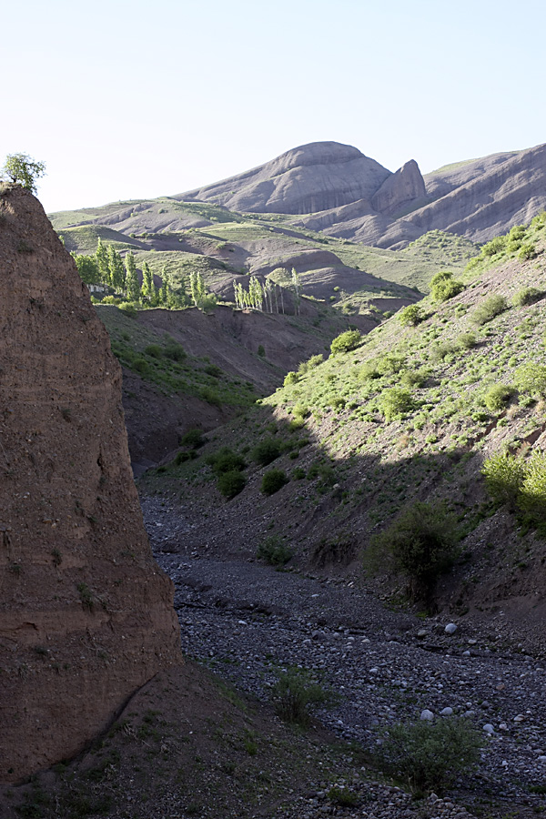
[[[546,497],[545,248],[544,217],[514,228],[470,263],[457,295],[420,302],[415,325],[397,314],[356,349],[303,365],[240,424],[217,432],[202,458],[150,473],[145,487],[176,486],[186,498],[190,480],[194,497],[206,493],[210,514],[219,506],[224,516],[243,517],[244,537],[220,535],[219,549],[251,554],[248,544],[269,531],[289,544],[297,565],[357,570],[363,558],[373,562],[377,532],[416,502],[432,504],[460,539],[437,604],[476,613],[527,595],[536,606],[546,561],[537,534]],[[270,466],[253,449],[260,442],[273,453]],[[221,445],[247,463],[245,488],[227,505],[206,460]],[[535,488],[522,484],[527,500],[521,486],[510,503],[488,490],[481,470],[492,456],[508,483],[514,470],[528,483],[535,470]],[[272,469],[282,475],[269,495],[262,481]],[[392,551],[379,566],[385,591],[407,589],[411,572]]]

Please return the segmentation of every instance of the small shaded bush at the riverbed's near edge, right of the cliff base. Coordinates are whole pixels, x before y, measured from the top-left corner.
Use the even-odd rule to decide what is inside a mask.
[[[314,682],[309,672],[289,668],[286,672],[278,673],[278,681],[271,689],[271,699],[283,720],[308,725],[311,708],[331,702],[332,695],[319,682]]]

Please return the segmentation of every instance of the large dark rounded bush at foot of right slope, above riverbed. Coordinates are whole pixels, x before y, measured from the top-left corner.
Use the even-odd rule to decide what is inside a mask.
[[[443,504],[415,503],[372,539],[372,550],[388,551],[395,568],[410,578],[410,591],[428,599],[434,584],[456,555],[457,521]]]

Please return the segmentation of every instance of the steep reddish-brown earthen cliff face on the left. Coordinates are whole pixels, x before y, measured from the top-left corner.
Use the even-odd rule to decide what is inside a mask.
[[[0,781],[76,753],[181,661],[121,372],[39,202],[0,190]]]

